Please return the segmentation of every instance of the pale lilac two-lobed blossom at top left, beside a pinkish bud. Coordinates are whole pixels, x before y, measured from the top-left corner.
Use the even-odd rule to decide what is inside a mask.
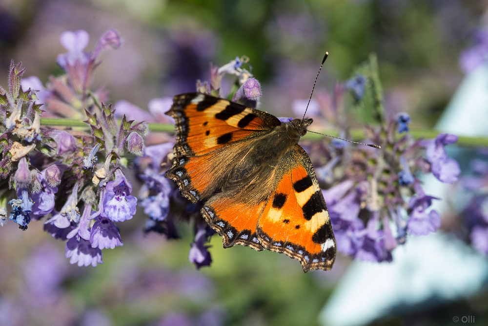
[[[58,65],[64,70],[67,70],[68,65],[75,65],[76,62],[81,65],[88,63],[89,54],[83,51],[90,41],[90,35],[87,31],[65,31],[61,34],[60,41],[62,46],[68,50],[67,53],[58,55]]]

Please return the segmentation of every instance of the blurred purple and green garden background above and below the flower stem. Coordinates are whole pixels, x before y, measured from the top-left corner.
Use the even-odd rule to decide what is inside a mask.
[[[152,98],[194,91],[210,62],[247,55],[262,83],[261,108],[291,116],[290,103],[308,98],[325,51],[319,94],[375,52],[386,114],[406,111],[413,129],[429,130],[467,78],[460,55],[487,26],[487,9],[483,0],[0,0],[0,84],[7,86],[11,59],[23,63],[24,77],[45,83],[61,74],[65,30],[88,31],[91,49],[115,28],[122,47],[103,55],[95,75],[112,103],[146,109]],[[338,255],[332,271],[307,274],[285,255],[224,250],[218,236],[211,267],[196,270],[187,259],[190,228],[178,225],[180,240],[143,236],[142,214],[123,223],[124,246],[104,250],[95,268],[70,265],[64,243],[44,233],[41,221],[26,232],[7,223],[0,229],[0,325],[457,325],[465,316],[473,316],[470,325],[488,325],[487,260],[448,235],[457,225],[454,208],[442,210],[437,247],[396,249],[408,257],[398,256],[404,264]],[[456,259],[433,259],[449,250]],[[388,286],[378,278],[386,270]],[[411,273],[419,275],[412,287]]]

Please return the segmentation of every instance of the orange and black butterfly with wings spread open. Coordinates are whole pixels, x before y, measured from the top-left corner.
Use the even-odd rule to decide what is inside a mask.
[[[324,196],[298,141],[311,118],[281,122],[258,109],[202,93],[176,95],[174,160],[165,176],[223,238],[285,253],[305,272],[329,270],[336,241]]]

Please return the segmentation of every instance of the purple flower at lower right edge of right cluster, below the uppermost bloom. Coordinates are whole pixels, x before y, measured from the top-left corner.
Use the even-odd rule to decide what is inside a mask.
[[[413,196],[408,202],[409,219],[407,228],[412,234],[427,235],[435,232],[441,226],[441,217],[435,210],[426,212],[432,204],[432,199],[439,199],[433,196]]]

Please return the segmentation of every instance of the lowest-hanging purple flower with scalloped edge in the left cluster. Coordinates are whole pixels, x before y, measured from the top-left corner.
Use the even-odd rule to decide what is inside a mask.
[[[97,264],[103,263],[102,261],[102,250],[99,248],[93,248],[90,241],[85,239],[76,239],[76,237],[71,238],[66,242],[66,247],[64,249],[64,257],[70,258],[69,262],[71,264],[78,264],[78,266],[88,266],[93,267]]]

